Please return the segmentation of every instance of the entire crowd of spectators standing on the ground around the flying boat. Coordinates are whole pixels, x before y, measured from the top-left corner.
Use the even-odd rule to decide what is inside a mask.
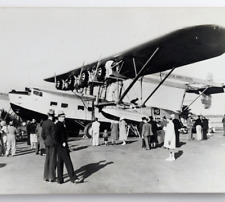
[[[225,115],[222,120],[225,131]],[[189,140],[207,140],[208,132],[208,120],[199,115],[197,120],[193,120],[189,114],[185,120],[185,125],[188,131]],[[142,121],[138,126],[138,134],[142,139],[142,148],[146,150],[155,149],[158,146],[164,146],[169,150],[168,161],[175,160],[175,149],[181,146],[180,132],[183,124],[175,116],[171,114],[169,118],[163,117],[162,120],[154,120],[152,116],[142,117]],[[124,118],[120,118],[119,121],[112,121],[110,132],[106,129],[103,132],[104,144],[109,144],[109,133],[111,136],[111,144],[117,144],[121,142],[121,145],[127,144],[129,125]],[[193,128],[196,129],[196,135],[193,136]],[[159,144],[158,131],[161,131],[164,135],[161,140],[162,145]],[[45,157],[44,164],[44,181],[57,182],[59,184],[64,183],[63,167],[64,164],[68,171],[70,181],[72,183],[80,183],[83,181],[83,177],[79,178],[73,168],[73,164],[70,158],[70,150],[67,142],[67,132],[65,126],[65,114],[63,111],[59,111],[57,116],[54,110],[50,109],[48,112],[48,119],[37,123],[35,119],[28,121],[26,125],[27,131],[27,144],[30,145],[30,149],[34,150],[36,154],[40,154]],[[16,134],[18,129],[14,126],[13,121],[9,122],[7,126],[5,121],[1,121],[1,154],[12,156],[16,154]],[[92,145],[100,145],[100,123],[96,118],[91,124],[92,133]],[[224,132],[225,135],[225,132]],[[57,178],[56,178],[57,172]]]

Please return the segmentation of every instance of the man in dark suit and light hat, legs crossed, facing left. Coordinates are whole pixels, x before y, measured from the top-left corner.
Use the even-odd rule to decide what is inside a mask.
[[[57,174],[58,183],[62,184],[63,179],[63,166],[66,165],[67,172],[72,183],[79,183],[83,181],[83,178],[76,179],[77,176],[74,173],[73,164],[71,162],[69,147],[67,142],[67,133],[65,127],[65,114],[63,111],[58,112],[58,122],[55,125],[55,139],[57,147]]]

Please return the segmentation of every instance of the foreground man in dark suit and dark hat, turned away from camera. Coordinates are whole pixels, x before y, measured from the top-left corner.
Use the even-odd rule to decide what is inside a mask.
[[[42,133],[45,148],[46,158],[44,166],[44,181],[55,182],[56,179],[56,145],[55,145],[55,111],[50,109],[48,119],[43,122]]]

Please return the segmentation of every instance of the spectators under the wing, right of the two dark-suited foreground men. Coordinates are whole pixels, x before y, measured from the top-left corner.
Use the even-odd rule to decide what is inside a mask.
[[[225,116],[224,116],[225,125]],[[199,115],[196,120],[193,119],[192,115],[189,114],[185,123],[181,122],[175,114],[171,114],[169,118],[163,117],[162,120],[154,120],[152,116],[142,117],[142,121],[138,126],[139,136],[142,138],[142,148],[146,150],[155,149],[162,145],[164,148],[169,149],[169,158],[166,160],[174,161],[174,151],[176,148],[181,146],[180,133],[182,128],[186,127],[186,132],[188,133],[188,140],[207,140],[207,133],[209,129],[208,119],[204,116]],[[108,145],[109,133],[111,134],[111,144],[117,144],[121,142],[121,145],[126,145],[127,137],[129,134],[129,125],[126,123],[124,118],[120,118],[119,121],[111,122],[111,132],[104,130],[103,140],[104,144]],[[193,130],[196,131],[195,136],[193,135]],[[159,143],[159,133],[161,132],[161,143]],[[92,123],[91,127],[92,133],[92,145],[100,145],[100,123],[96,118]]]

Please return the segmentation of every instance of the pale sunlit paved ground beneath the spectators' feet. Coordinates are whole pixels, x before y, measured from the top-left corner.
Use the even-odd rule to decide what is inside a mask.
[[[0,194],[224,193],[225,137],[215,133],[207,141],[188,141],[181,135],[181,141],[176,161],[168,162],[166,149],[143,150],[135,137],[125,146],[99,147],[76,138],[71,158],[85,180],[70,183],[65,169],[62,185],[43,182],[45,157],[18,143],[15,157],[0,157]]]

